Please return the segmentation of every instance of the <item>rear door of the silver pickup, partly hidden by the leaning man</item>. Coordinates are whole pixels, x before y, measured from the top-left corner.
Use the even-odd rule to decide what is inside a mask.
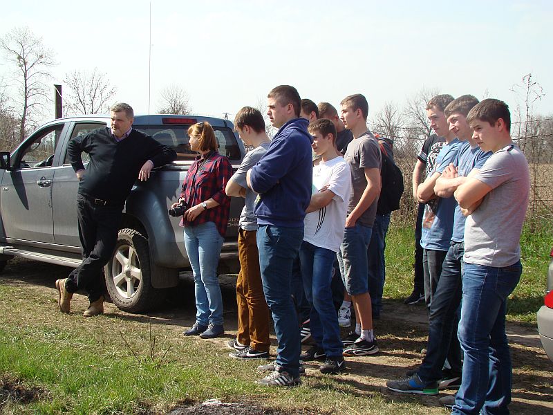
[[[71,131],[69,139],[73,140],[77,136],[106,127],[106,125],[106,122],[102,120],[74,122],[69,127],[69,131]],[[86,166],[88,154],[82,153],[81,156]],[[80,250],[81,241],[79,239],[77,205],[75,203],[79,181],[75,176],[75,170],[69,164],[66,149],[62,154],[62,160],[63,162],[59,163],[59,167],[55,169],[55,180],[52,187],[54,239],[58,245],[72,246]]]

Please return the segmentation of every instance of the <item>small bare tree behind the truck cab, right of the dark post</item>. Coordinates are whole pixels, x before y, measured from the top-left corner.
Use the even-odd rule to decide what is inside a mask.
[[[106,73],[98,68],[87,71],[66,73],[64,84],[64,114],[82,115],[107,113],[108,101],[113,98],[117,88],[112,86]]]

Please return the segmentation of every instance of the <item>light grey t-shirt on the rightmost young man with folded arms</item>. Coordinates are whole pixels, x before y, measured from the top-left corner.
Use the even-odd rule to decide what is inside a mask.
[[[496,151],[474,176],[492,190],[465,223],[465,262],[503,268],[521,259],[530,189],[526,158],[516,145]]]

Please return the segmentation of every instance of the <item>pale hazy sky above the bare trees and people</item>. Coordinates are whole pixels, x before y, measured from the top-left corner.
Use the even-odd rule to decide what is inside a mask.
[[[151,4],[151,65],[149,9]],[[95,66],[115,100],[150,111],[168,84],[194,113],[229,118],[274,86],[338,107],[363,93],[369,117],[423,88],[505,100],[532,72],[553,113],[553,2],[536,1],[9,1],[1,35],[28,26],[55,51],[54,82]],[[0,77],[9,80],[3,56]]]

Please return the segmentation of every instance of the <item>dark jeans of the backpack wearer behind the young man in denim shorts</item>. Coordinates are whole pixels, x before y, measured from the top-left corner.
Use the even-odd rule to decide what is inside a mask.
[[[382,311],[382,292],[386,281],[386,260],[384,250],[386,249],[386,233],[390,225],[390,214],[377,214],[371,243],[368,244],[368,293],[371,294],[373,315],[379,315]]]

